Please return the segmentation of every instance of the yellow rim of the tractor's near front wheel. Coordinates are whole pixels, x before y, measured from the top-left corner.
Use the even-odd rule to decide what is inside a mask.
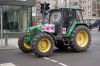
[[[47,52],[50,50],[50,47],[51,47],[51,42],[49,39],[47,38],[43,38],[41,39],[39,42],[38,42],[38,49],[41,51],[41,52]]]

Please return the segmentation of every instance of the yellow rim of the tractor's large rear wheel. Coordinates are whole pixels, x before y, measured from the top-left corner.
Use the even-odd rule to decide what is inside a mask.
[[[85,47],[88,44],[88,40],[89,40],[89,36],[87,32],[84,30],[81,30],[76,35],[76,41],[77,41],[78,46],[80,47]]]

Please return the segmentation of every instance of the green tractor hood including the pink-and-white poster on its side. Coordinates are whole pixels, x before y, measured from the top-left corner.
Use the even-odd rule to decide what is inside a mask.
[[[26,31],[29,35],[38,34],[43,31],[54,33],[55,24],[44,24],[44,25],[32,26],[32,27],[29,27]]]

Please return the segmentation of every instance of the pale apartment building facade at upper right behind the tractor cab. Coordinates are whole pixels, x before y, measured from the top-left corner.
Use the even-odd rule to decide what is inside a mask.
[[[83,9],[83,18],[87,22],[100,18],[100,0],[70,0],[70,7]]]

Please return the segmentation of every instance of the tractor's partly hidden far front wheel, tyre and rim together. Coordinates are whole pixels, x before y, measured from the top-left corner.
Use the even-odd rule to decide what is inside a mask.
[[[32,52],[31,47],[24,41],[25,35],[22,37],[19,37],[18,40],[18,47],[19,49],[24,53]]]

